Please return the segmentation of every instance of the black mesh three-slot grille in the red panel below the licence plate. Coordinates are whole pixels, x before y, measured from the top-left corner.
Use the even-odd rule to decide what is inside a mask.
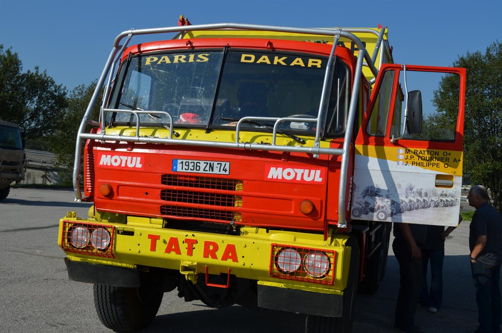
[[[185,217],[218,222],[241,221],[241,214],[225,208],[242,207],[242,197],[228,193],[206,193],[192,189],[240,192],[243,190],[241,180],[194,177],[179,175],[162,175],[161,183],[166,186],[183,187],[183,189],[161,190],[161,199],[179,204],[196,204],[213,206],[213,208],[183,207],[181,205],[165,205],[160,213],[169,217]]]

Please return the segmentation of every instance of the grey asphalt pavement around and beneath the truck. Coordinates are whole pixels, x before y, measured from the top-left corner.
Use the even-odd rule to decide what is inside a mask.
[[[59,219],[67,211],[85,217],[90,207],[73,198],[71,190],[20,188],[0,202],[0,332],[111,332],[95,313],[92,286],[68,280],[65,255],[57,246]],[[417,309],[416,323],[423,332],[473,332],[477,326],[468,236],[469,222],[464,221],[446,241],[443,305],[438,313]],[[399,270],[390,247],[380,288],[357,297],[354,332],[397,332],[393,323],[398,288]],[[230,331],[303,332],[304,316],[240,306],[213,309],[170,292],[157,318],[143,330]]]

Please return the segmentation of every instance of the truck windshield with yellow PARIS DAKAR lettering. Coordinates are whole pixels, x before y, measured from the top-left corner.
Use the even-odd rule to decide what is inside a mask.
[[[317,118],[327,57],[293,52],[223,50],[164,53],[133,57],[122,66],[122,85],[114,91],[114,108],[140,113],[142,124],[228,128],[242,117]],[[341,134],[350,95],[349,68],[335,65],[327,134]],[[119,80],[120,81],[120,80]],[[130,112],[108,121],[135,124]],[[269,131],[273,121],[257,119],[246,126]],[[288,131],[313,132],[315,123],[288,121]]]

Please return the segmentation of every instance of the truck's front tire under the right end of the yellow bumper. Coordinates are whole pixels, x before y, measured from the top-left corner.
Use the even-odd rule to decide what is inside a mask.
[[[360,250],[357,239],[351,236],[347,244],[352,247],[349,281],[343,291],[343,316],[338,318],[307,315],[305,333],[351,333],[360,266]]]

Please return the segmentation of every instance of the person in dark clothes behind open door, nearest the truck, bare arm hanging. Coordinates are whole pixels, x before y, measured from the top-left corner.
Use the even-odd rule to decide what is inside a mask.
[[[422,289],[422,259],[420,246],[425,242],[427,226],[394,223],[392,249],[399,263],[399,294],[394,326],[401,332],[416,332],[414,326],[420,290]]]

